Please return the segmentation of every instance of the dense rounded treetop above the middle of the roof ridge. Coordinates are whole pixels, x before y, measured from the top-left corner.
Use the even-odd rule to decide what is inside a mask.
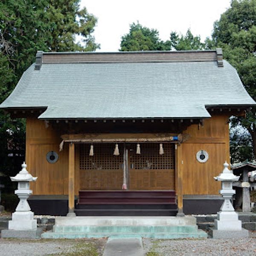
[[[159,38],[156,29],[143,27],[140,23],[132,23],[129,33],[122,36],[120,51],[163,51],[170,50],[169,41]]]

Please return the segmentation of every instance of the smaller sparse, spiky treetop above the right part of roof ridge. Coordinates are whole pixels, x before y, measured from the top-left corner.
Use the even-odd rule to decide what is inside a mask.
[[[205,44],[201,42],[200,36],[193,36],[190,29],[186,35],[178,35],[177,32],[171,32],[170,45],[176,50],[201,50]]]

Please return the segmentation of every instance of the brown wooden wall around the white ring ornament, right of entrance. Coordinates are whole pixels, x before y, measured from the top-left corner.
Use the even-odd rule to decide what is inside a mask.
[[[228,116],[212,116],[204,126],[191,125],[184,132],[189,140],[181,144],[181,169],[184,195],[217,195],[220,183],[213,179],[223,170],[223,163],[230,163]],[[196,153],[209,154],[206,163],[199,163]]]

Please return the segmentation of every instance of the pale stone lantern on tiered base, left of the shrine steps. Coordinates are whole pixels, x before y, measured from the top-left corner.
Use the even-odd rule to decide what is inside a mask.
[[[32,177],[26,170],[25,162],[22,164],[22,170],[15,177],[11,177],[12,181],[18,182],[18,189],[15,190],[15,194],[19,197],[20,202],[16,211],[12,214],[8,230],[2,230],[3,238],[37,238],[41,235],[41,230],[37,229],[34,212],[31,212],[27,202],[29,195],[32,194],[32,190],[29,189],[29,182],[36,179],[37,177]]]

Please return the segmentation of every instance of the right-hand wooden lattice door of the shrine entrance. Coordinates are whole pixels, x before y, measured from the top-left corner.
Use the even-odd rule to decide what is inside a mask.
[[[159,143],[140,144],[141,154],[136,154],[136,144],[129,150],[130,190],[175,189],[175,145],[164,143],[164,154],[159,154]]]

